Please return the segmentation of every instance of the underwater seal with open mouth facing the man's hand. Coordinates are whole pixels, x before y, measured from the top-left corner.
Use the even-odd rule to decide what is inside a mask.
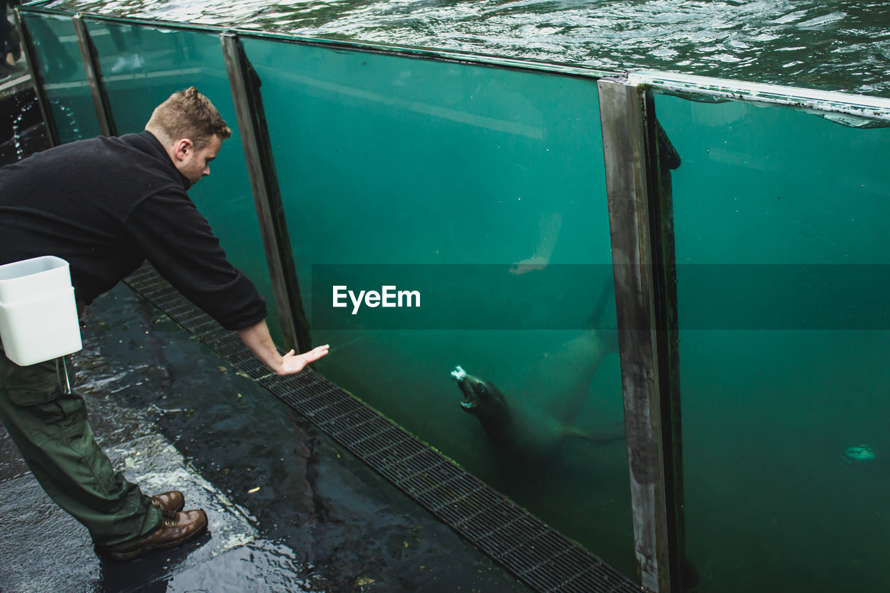
[[[596,316],[602,314],[603,290]],[[605,444],[624,439],[623,427],[592,433],[574,426],[587,399],[590,385],[603,358],[617,351],[617,332],[588,329],[544,353],[523,373],[514,377],[514,390],[502,391],[491,381],[468,374],[460,366],[451,378],[464,399],[461,408],[472,414],[498,451],[515,459],[533,459],[554,451],[567,438]],[[509,395],[508,395],[509,394]]]

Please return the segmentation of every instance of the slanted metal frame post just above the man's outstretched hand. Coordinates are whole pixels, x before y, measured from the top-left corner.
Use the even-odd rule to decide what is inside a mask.
[[[235,103],[235,113],[247,172],[254,192],[256,215],[263,234],[263,248],[269,275],[275,292],[281,330],[287,348],[306,352],[312,348],[309,336],[309,322],[303,313],[303,299],[294,266],[287,232],[284,206],[281,202],[278,175],[275,172],[275,159],[272,157],[269,128],[266,126],[263,97],[260,93],[260,79],[247,60],[239,37],[234,33],[220,34],[223,45],[226,71],[229,74],[231,96]]]

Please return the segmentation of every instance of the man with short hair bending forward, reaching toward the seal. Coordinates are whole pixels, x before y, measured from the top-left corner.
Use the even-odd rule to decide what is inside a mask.
[[[59,256],[78,311],[148,261],[193,303],[287,375],[328,346],[279,355],[263,298],[226,260],[186,191],[231,130],[194,87],[174,93],[145,131],[71,142],[0,169],[0,264]],[[128,561],[206,531],[179,491],[148,497],[115,472],[93,439],[83,398],[62,386],[60,361],[19,367],[0,355],[0,420],[49,496],[85,524],[96,549]],[[67,364],[62,360],[61,364]]]

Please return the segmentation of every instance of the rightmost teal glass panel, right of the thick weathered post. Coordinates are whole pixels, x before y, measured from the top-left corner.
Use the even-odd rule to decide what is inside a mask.
[[[656,106],[683,158],[685,513],[699,590],[888,590],[890,129],[743,102]]]

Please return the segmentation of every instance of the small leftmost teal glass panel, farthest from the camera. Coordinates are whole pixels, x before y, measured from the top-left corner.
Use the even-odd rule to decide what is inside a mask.
[[[29,12],[22,12],[21,16],[34,40],[59,142],[98,136],[99,122],[71,17]]]

